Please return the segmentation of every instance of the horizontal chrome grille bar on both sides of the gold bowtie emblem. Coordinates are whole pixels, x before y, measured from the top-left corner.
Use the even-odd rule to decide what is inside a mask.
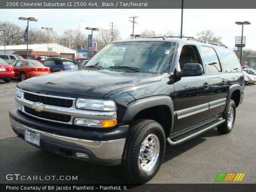
[[[22,106],[27,106],[29,108],[32,108],[33,104],[36,104],[36,102],[24,100],[18,97],[15,97],[15,101],[22,105]],[[65,114],[65,115],[70,115],[70,116],[76,116],[76,117],[84,117],[84,118],[93,118],[93,119],[98,119],[98,120],[109,120],[109,119],[116,119],[116,112],[96,112],[96,111],[87,111],[87,110],[78,110],[75,108],[63,108],[63,107],[56,107],[56,106],[48,106],[44,105],[44,110],[45,112],[51,112],[51,113],[59,113],[59,114]],[[30,114],[28,114],[30,115]],[[36,116],[35,116],[36,117]],[[38,117],[37,117],[38,118]],[[44,118],[41,118],[44,119]],[[71,118],[72,119],[72,118]],[[49,120],[49,119],[44,119],[44,120]],[[63,122],[61,122],[63,123]],[[70,122],[72,124],[72,122]]]

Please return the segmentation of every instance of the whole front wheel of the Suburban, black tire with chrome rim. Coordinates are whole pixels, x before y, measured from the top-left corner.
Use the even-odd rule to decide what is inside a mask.
[[[121,172],[131,182],[145,183],[156,175],[162,164],[166,146],[164,129],[154,120],[137,120],[130,127]]]

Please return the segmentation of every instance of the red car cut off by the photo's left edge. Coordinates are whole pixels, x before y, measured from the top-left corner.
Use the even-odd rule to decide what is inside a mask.
[[[14,78],[14,68],[0,58],[0,79],[4,82],[9,83],[11,79]]]

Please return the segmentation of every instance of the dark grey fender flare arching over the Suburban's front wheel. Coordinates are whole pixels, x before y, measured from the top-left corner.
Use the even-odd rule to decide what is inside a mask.
[[[126,108],[123,121],[131,121],[138,112],[147,108],[156,107],[160,105],[165,105],[169,107],[172,116],[171,121],[173,127],[174,108],[172,104],[172,99],[169,96],[152,96],[132,102]]]

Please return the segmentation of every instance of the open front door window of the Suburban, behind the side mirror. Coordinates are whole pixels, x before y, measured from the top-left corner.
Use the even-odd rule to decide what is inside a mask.
[[[180,59],[177,70],[182,71],[183,66],[186,63],[199,63],[202,65],[202,61],[198,54],[198,50],[194,45],[184,45],[180,52]],[[202,65],[203,66],[203,65]]]

